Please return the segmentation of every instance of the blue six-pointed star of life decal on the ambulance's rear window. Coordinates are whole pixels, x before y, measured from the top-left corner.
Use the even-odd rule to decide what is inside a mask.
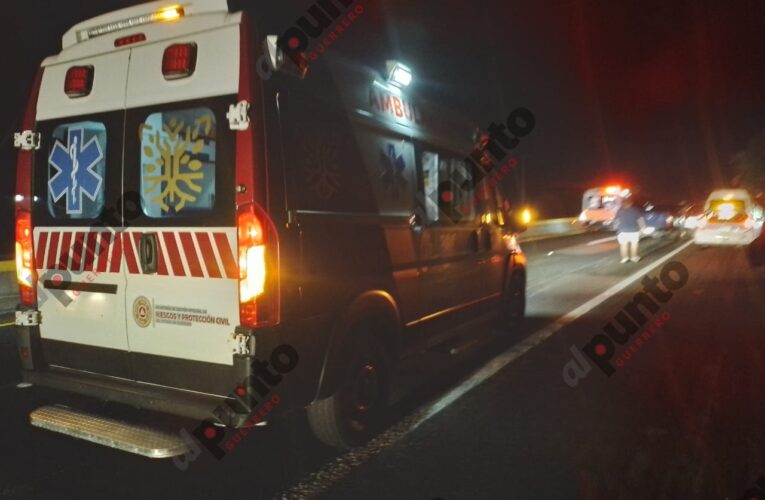
[[[48,181],[48,189],[54,202],[66,195],[67,214],[81,214],[82,196],[96,201],[103,183],[103,178],[93,170],[104,158],[101,144],[95,136],[87,144],[84,142],[83,129],[69,129],[67,145],[56,139],[48,157],[48,163],[56,169],[56,174]]]

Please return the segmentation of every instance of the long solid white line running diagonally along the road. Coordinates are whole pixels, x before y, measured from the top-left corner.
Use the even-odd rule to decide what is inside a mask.
[[[507,351],[491,359],[482,368],[479,368],[477,371],[473,372],[473,374],[463,379],[463,381],[457,387],[447,392],[445,395],[415,410],[408,417],[404,418],[402,421],[385,431],[383,434],[370,441],[366,446],[356,448],[345,453],[344,455],[337,457],[335,460],[326,464],[318,471],[309,474],[308,477],[306,477],[303,481],[299,482],[289,490],[283,492],[276,498],[281,498],[284,500],[312,498],[321,494],[322,492],[327,491],[334,484],[343,480],[353,471],[355,467],[363,465],[375,455],[378,455],[379,453],[392,447],[401,441],[401,439],[403,439],[407,434],[430,420],[431,417],[437,415],[439,412],[449,407],[449,405],[460,399],[462,396],[475,389],[483,382],[489,380],[504,367],[517,360],[524,354],[528,353],[533,348],[541,345],[545,340],[555,335],[562,328],[592,311],[600,304],[613,297],[615,294],[621,292],[635,281],[641,279],[647,273],[661,266],[669,259],[688,248],[692,243],[692,241],[687,242],[686,244],[668,253],[656,262],[653,262],[649,266],[640,269],[635,274],[623,279],[597,297],[588,300],[576,309],[561,316],[552,324],[537,330],[535,333],[531,334],[520,343],[514,345]]]

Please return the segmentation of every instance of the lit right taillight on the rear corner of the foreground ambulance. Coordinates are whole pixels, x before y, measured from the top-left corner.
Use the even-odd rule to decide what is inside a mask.
[[[239,316],[242,326],[256,328],[278,322],[279,284],[276,235],[268,216],[252,208],[239,213]]]

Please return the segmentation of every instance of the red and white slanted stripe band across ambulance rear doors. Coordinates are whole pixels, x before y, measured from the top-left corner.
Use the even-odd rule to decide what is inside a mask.
[[[37,268],[129,274],[141,271],[138,243],[143,233],[45,231],[35,241]],[[233,245],[225,232],[156,231],[157,275],[238,279]]]

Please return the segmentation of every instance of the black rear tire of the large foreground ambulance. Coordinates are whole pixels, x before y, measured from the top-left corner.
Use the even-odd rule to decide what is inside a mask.
[[[339,387],[308,407],[308,423],[321,442],[349,449],[367,442],[385,421],[390,392],[390,363],[372,335],[356,335],[344,350]]]

